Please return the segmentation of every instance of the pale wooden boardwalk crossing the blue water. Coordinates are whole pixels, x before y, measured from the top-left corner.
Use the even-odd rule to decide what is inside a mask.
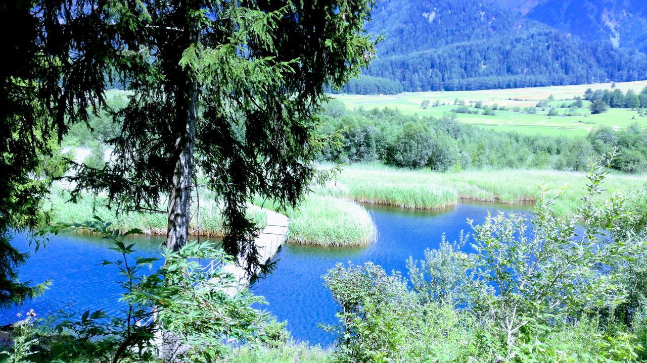
[[[258,249],[259,262],[261,262],[261,264],[265,264],[272,259],[281,245],[285,243],[290,225],[290,220],[287,216],[267,209],[263,209],[263,211],[265,212],[265,220],[267,224],[265,225],[265,228],[261,230],[258,237],[254,239],[254,244],[256,244],[256,248]],[[246,273],[245,269],[241,267],[243,264],[243,259],[239,258],[237,264],[228,264],[223,267],[227,273],[235,276],[239,282],[236,289],[230,289],[230,291],[228,291],[230,295],[236,295],[237,291],[247,286],[252,278],[252,276]]]

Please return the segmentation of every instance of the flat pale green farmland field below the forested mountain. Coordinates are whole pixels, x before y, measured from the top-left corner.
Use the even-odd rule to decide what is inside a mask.
[[[647,81],[617,83],[616,86],[623,92],[630,89],[640,92],[642,88],[647,87]],[[476,91],[405,92],[378,96],[338,94],[333,97],[344,102],[348,109],[389,107],[399,109],[405,114],[433,117],[443,116],[445,112],[452,112],[456,109],[458,106],[454,104],[455,99],[465,101],[465,105],[470,107],[470,110],[476,110],[472,106],[477,101],[481,101],[483,105],[491,107],[496,104],[499,107],[509,107],[510,110],[495,110],[494,115],[483,115],[481,112],[479,114],[457,114],[459,121],[495,130],[527,134],[586,136],[589,130],[600,126],[622,129],[635,122],[647,124],[647,118],[639,116],[636,110],[630,109],[609,109],[608,112],[592,115],[587,109],[589,105],[587,101],[584,101],[582,108],[576,109],[575,116],[565,116],[568,109],[560,106],[564,103],[572,103],[575,96],[584,96],[584,91],[587,88],[610,90],[611,83]],[[554,101],[549,103],[549,107],[537,107],[536,114],[512,110],[514,107],[521,109],[533,107],[538,101],[547,99],[551,95]],[[439,101],[441,105],[422,109],[421,103],[425,99],[429,99],[432,105],[435,101]],[[557,116],[548,116],[552,107],[556,109]]]

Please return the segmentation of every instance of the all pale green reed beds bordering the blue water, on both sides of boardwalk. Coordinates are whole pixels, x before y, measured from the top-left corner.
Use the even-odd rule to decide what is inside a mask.
[[[383,165],[350,165],[327,185],[315,187],[296,209],[280,211],[290,218],[288,242],[321,247],[358,247],[375,242],[377,227],[364,206],[359,203],[390,205],[407,209],[448,209],[463,200],[498,203],[534,202],[542,185],[551,194],[564,190],[554,210],[558,214],[576,211],[586,192],[586,174],[582,172],[542,170],[500,170],[432,172],[408,170]],[[639,189],[647,175],[612,173],[600,200],[612,193]],[[205,194],[206,195],[206,194]],[[92,198],[78,204],[66,204],[66,194],[52,189],[53,222],[83,222],[93,214],[113,221],[119,229],[140,228],[148,234],[166,234],[166,214],[130,213],[115,216],[98,198],[93,213]],[[248,216],[262,220],[263,207],[276,210],[271,202],[256,200],[258,206]],[[200,232],[192,220],[192,234],[222,237],[223,217],[213,200],[201,200]]]

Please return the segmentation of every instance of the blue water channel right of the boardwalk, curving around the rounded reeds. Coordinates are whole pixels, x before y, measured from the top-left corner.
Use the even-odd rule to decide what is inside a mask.
[[[388,272],[406,276],[406,260],[423,258],[424,249],[438,247],[443,233],[457,240],[469,231],[467,218],[478,224],[488,211],[528,211],[529,205],[464,203],[444,211],[411,211],[393,207],[365,205],[377,225],[377,242],[356,249],[284,245],[278,253],[278,267],[272,275],[252,285],[254,293],[265,296],[265,309],[280,321],[287,320],[292,337],[323,346],[333,343],[330,333],[319,324],[335,324],[337,304],[323,287],[322,275],[336,263],[375,262]]]

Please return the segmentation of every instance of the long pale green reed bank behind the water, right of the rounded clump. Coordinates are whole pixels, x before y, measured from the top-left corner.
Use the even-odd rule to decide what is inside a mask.
[[[542,187],[551,192],[564,190],[555,205],[560,213],[575,211],[586,193],[586,174],[542,170],[432,172],[405,170],[382,165],[350,165],[336,178],[337,189],[347,191],[358,202],[394,205],[411,209],[442,209],[460,200],[501,203],[532,202]],[[627,192],[647,183],[647,175],[619,172],[608,176],[607,191]]]

